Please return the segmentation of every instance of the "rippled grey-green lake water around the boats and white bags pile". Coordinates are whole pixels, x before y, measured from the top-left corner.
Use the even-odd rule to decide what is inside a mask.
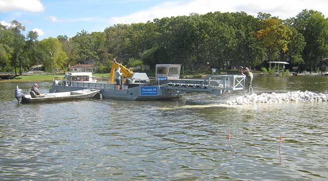
[[[236,92],[23,105],[16,84],[33,82],[0,82],[0,180],[328,179],[327,102],[222,105]],[[328,77],[255,77],[253,88],[328,94]]]

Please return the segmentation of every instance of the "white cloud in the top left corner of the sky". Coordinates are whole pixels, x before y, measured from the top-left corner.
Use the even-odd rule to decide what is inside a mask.
[[[44,7],[39,0],[0,0],[0,12],[15,10],[43,12]]]

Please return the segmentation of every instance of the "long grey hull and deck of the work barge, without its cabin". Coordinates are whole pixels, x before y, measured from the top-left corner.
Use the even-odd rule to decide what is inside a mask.
[[[242,90],[245,86],[244,75],[207,75],[204,79],[171,80],[160,77],[148,80],[134,79],[133,83],[125,83],[120,89],[116,83],[110,83],[110,81],[103,79],[99,80],[99,78],[90,76],[88,81],[73,81],[72,78],[54,80],[49,92],[72,92],[95,88],[100,90],[100,97],[104,99],[156,101],[179,99],[184,94],[191,92],[221,95]],[[126,82],[128,81],[127,79]]]

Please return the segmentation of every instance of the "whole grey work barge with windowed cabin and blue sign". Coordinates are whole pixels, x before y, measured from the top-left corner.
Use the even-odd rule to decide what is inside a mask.
[[[124,73],[125,67],[122,64],[119,66],[123,67],[121,72]],[[130,77],[122,78],[121,87],[114,83],[113,77],[95,78],[88,72],[70,73],[61,80],[54,80],[49,92],[96,88],[104,99],[151,101],[179,99],[190,92],[221,95],[242,90],[245,86],[244,75],[208,75],[204,79],[180,79],[180,67],[176,64],[156,65],[156,77],[153,78],[149,78],[146,73],[130,72]]]

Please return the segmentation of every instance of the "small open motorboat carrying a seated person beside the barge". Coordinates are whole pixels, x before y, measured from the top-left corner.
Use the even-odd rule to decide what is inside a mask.
[[[43,96],[38,98],[32,98],[31,95],[24,94],[21,97],[21,103],[45,103],[53,101],[81,100],[92,98],[98,93],[100,93],[99,89],[87,88],[79,91],[42,94]]]

